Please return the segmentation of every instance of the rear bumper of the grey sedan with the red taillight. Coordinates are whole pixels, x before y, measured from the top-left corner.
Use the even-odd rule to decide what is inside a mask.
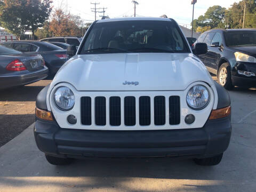
[[[0,76],[0,89],[5,89],[13,86],[27,85],[46,78],[48,68],[29,72],[23,75]]]

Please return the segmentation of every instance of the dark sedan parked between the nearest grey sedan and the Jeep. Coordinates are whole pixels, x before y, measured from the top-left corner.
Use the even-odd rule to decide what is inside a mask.
[[[3,43],[6,46],[21,52],[37,52],[42,55],[50,74],[55,74],[68,60],[67,50],[47,42],[13,41]]]

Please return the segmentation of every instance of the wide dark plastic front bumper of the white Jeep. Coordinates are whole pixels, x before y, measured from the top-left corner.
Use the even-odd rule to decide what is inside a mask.
[[[230,116],[186,130],[94,131],[61,129],[37,119],[37,147],[58,157],[210,157],[223,153],[231,135]]]

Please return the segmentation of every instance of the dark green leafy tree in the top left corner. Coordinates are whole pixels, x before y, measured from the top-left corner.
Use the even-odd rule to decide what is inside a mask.
[[[18,38],[26,30],[31,30],[34,36],[34,31],[49,18],[51,3],[47,0],[0,0],[1,25]]]

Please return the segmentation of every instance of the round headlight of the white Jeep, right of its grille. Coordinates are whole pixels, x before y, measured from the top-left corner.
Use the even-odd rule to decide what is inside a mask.
[[[191,109],[201,110],[208,105],[209,101],[209,91],[203,85],[195,85],[188,91],[187,103]]]

